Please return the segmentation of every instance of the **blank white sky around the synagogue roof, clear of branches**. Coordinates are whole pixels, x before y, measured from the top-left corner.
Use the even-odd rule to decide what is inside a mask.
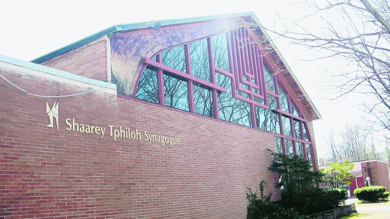
[[[112,25],[149,20],[253,11],[263,25],[272,27],[284,19],[299,18],[306,10],[294,1],[4,1],[0,13],[0,54],[29,61]],[[313,125],[318,157],[326,156],[328,134],[339,132],[347,122],[355,123],[366,116],[359,110],[364,98],[351,94],[330,100],[337,96],[337,92],[329,89],[331,73],[340,71],[344,63],[303,61],[312,56],[312,51],[280,38],[273,41],[322,115],[323,119],[314,121]]]

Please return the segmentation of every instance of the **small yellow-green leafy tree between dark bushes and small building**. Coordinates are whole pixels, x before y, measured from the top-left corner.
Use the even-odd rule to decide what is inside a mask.
[[[351,184],[350,179],[355,178],[351,175],[351,170],[355,165],[345,161],[343,163],[334,162],[330,163],[329,167],[324,168],[321,172],[324,174],[324,180],[331,182],[332,188],[338,188],[340,182]]]

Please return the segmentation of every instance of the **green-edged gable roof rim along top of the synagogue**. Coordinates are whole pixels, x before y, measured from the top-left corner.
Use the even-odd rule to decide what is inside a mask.
[[[286,60],[284,60],[283,56],[273,43],[271,37],[267,34],[264,28],[262,28],[262,25],[256,15],[253,12],[245,12],[245,13],[235,13],[235,14],[226,14],[226,15],[213,15],[213,16],[204,16],[204,17],[194,17],[194,18],[183,18],[183,19],[172,19],[172,20],[159,20],[161,23],[161,26],[166,26],[166,25],[176,25],[176,24],[183,24],[183,23],[190,23],[190,22],[199,22],[199,21],[206,21],[206,20],[217,20],[217,19],[229,19],[229,18],[249,18],[249,20],[254,20],[255,23],[258,24],[258,27],[261,30],[261,33],[265,36],[267,39],[267,43],[269,43],[272,48],[273,52],[275,53],[274,55],[277,56],[280,60],[282,65],[284,65],[284,69],[286,69],[287,74],[283,74],[283,76],[286,78],[286,80],[290,83],[292,86],[295,94],[298,97],[303,97],[302,103],[308,110],[308,112],[311,114],[312,119],[322,119],[321,115],[319,114],[318,110],[315,108],[314,104],[312,103],[312,100],[310,100],[309,96],[303,89],[302,85],[299,83],[299,81],[296,79],[295,75],[292,73],[291,68],[287,64]],[[145,25],[148,24],[149,21],[146,22],[137,22],[137,23],[128,23],[128,24],[118,24],[114,25],[111,27],[108,27],[102,31],[99,31],[95,34],[92,34],[88,37],[85,37],[81,40],[78,40],[76,42],[73,42],[69,45],[66,45],[64,47],[61,47],[55,51],[52,51],[50,53],[47,53],[43,56],[40,56],[34,60],[31,60],[31,62],[34,63],[41,63],[45,60],[50,60],[54,57],[60,56],[62,54],[65,54],[69,51],[72,51],[74,49],[77,49],[78,47],[81,47],[83,45],[86,45],[94,40],[97,40],[100,37],[114,34],[117,32],[121,31],[130,31],[130,30],[137,30],[141,28],[145,28]]]

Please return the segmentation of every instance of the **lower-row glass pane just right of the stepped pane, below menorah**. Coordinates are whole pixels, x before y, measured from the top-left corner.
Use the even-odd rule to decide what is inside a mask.
[[[280,134],[279,116],[273,110],[254,106],[257,128]]]

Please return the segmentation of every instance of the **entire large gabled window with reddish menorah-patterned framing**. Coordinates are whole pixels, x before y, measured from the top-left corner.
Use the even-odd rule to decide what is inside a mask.
[[[154,103],[163,97],[167,106],[250,127],[255,122],[258,129],[275,133],[276,152],[282,153],[282,145],[286,145],[285,153],[293,154],[296,149],[296,154],[303,157],[311,143],[302,112],[289,100],[289,89],[284,89],[289,88],[288,84],[282,84],[283,80],[276,83],[279,76],[265,67],[259,47],[248,44],[253,40],[247,39],[250,36],[245,37],[245,33],[246,30],[235,30],[196,40],[162,51],[161,59],[157,59],[158,55],[152,58],[154,61],[146,59],[148,66],[135,97]],[[157,77],[160,71],[162,78]],[[196,79],[181,72],[191,72]],[[263,78],[265,83],[261,83]],[[159,84],[163,84],[163,94],[158,94]],[[263,93],[265,89],[269,92]],[[285,137],[280,136],[282,132]],[[308,144],[301,143],[302,139]],[[310,152],[308,156],[312,159]]]

